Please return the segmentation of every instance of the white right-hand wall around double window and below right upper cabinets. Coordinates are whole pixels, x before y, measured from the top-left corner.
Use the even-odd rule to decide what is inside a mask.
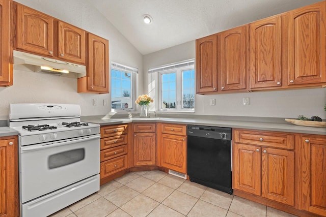
[[[195,41],[147,54],[143,59],[144,73],[151,67],[195,58],[195,54]],[[157,79],[152,86],[154,85],[157,86]],[[158,98],[158,91],[152,91],[155,92],[155,98]],[[250,98],[250,105],[242,105],[243,97]],[[210,106],[210,99],[216,100],[215,106]],[[158,108],[158,100],[155,102]],[[317,115],[322,119],[326,118],[326,112],[323,110],[326,103],[326,88],[196,95],[195,102],[195,114],[200,115],[296,118],[302,114],[307,117]]]

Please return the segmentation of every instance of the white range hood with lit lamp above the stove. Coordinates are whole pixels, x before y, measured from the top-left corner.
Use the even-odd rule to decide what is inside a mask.
[[[38,56],[14,50],[14,69],[30,70],[38,73],[81,78],[86,76],[86,66],[68,63],[58,59]]]

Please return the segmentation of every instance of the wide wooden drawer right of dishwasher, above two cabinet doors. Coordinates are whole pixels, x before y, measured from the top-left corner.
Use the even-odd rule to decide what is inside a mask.
[[[294,148],[294,134],[258,130],[234,130],[234,142],[276,148]]]

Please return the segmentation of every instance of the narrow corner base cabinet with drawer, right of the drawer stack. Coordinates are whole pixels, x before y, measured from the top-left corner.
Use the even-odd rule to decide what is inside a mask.
[[[133,123],[133,166],[156,165],[156,123]]]

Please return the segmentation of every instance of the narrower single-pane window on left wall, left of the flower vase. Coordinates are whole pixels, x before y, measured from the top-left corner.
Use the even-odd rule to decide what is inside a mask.
[[[134,108],[134,83],[137,68],[112,62],[111,108],[132,110]]]

